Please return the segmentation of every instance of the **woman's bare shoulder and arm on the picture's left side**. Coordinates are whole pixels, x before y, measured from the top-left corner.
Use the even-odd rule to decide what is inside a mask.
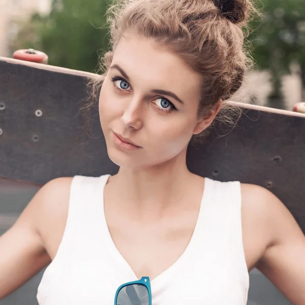
[[[16,223],[0,236],[0,299],[31,279],[53,258],[65,228],[71,181],[72,178],[57,178],[44,185]]]

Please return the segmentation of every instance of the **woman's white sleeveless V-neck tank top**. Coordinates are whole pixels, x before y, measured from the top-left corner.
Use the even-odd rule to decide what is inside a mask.
[[[105,220],[103,192],[109,176],[73,178],[63,239],[38,287],[40,305],[113,305],[116,289],[138,280]],[[153,305],[246,305],[248,289],[240,183],[205,178],[187,249],[151,281]]]

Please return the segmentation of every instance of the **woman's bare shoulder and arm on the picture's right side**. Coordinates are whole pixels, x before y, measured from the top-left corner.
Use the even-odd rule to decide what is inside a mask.
[[[268,190],[242,185],[241,196],[247,263],[255,264],[291,303],[305,304],[305,236],[301,228]]]

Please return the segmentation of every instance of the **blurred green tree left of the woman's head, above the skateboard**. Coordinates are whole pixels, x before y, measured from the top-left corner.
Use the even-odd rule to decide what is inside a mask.
[[[35,14],[22,26],[11,50],[39,49],[50,65],[92,72],[108,46],[106,9],[105,0],[53,0],[49,15]]]

